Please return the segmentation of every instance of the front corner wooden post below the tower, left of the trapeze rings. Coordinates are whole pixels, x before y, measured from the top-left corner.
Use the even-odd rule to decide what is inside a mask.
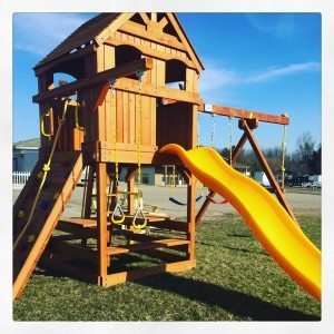
[[[107,276],[108,267],[108,255],[107,255],[107,243],[108,243],[108,229],[107,229],[107,168],[106,164],[97,163],[97,228],[98,228],[98,276],[99,285],[104,286],[104,279]]]

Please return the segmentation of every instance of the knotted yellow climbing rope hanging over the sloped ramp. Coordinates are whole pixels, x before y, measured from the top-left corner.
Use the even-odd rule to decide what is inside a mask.
[[[67,109],[68,109],[68,104],[69,104],[69,100],[66,99],[66,100],[65,100],[65,104],[63,104],[62,116],[61,116],[61,118],[58,120],[58,129],[57,129],[57,132],[56,132],[56,136],[55,136],[55,140],[53,140],[53,144],[52,144],[52,148],[51,148],[51,151],[50,151],[50,155],[49,155],[49,159],[48,159],[47,164],[43,165],[41,181],[40,181],[38,191],[37,191],[37,194],[36,194],[35,200],[33,200],[33,203],[32,203],[32,206],[31,206],[31,210],[30,210],[28,220],[27,220],[24,227],[22,228],[21,233],[20,233],[19,236],[17,237],[17,239],[16,239],[16,242],[14,242],[14,244],[13,244],[13,249],[16,249],[16,247],[17,247],[17,245],[19,244],[19,242],[21,240],[23,234],[26,233],[26,230],[28,229],[28,227],[29,227],[30,224],[31,224],[32,216],[33,216],[35,210],[36,210],[36,207],[37,207],[37,203],[38,203],[38,200],[39,200],[40,193],[41,193],[42,187],[43,187],[43,185],[45,185],[45,181],[46,181],[46,178],[47,178],[47,176],[48,176],[48,173],[49,173],[50,169],[51,169],[50,166],[51,166],[51,163],[52,163],[52,159],[53,159],[53,155],[55,155],[55,150],[56,150],[56,147],[57,147],[57,144],[58,144],[58,140],[59,140],[59,136],[60,136],[61,128],[62,128],[63,124],[66,122],[66,112],[67,112]]]

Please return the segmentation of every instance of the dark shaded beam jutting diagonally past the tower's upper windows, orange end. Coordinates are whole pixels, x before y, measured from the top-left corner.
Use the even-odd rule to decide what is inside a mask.
[[[32,97],[32,101],[36,104],[40,104],[52,98],[71,96],[81,89],[97,86],[111,78],[117,79],[120,77],[128,77],[134,75],[138,70],[150,70],[153,69],[153,66],[154,61],[151,58],[134,60],[125,65],[120,65],[118,67],[98,72],[92,77],[79,79],[73,82],[57,87],[52,90],[40,92]]]

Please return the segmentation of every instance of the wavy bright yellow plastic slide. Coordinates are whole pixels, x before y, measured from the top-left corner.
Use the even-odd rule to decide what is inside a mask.
[[[186,151],[169,144],[160,153],[177,155],[200,183],[225,197],[274,261],[302,288],[321,301],[321,250],[269,191],[236,171],[212,148]]]

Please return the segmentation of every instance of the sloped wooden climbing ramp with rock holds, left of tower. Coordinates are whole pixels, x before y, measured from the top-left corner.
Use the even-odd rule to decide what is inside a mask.
[[[56,153],[27,226],[47,158],[40,158],[13,206],[13,298],[27,285],[82,171],[80,151]]]

